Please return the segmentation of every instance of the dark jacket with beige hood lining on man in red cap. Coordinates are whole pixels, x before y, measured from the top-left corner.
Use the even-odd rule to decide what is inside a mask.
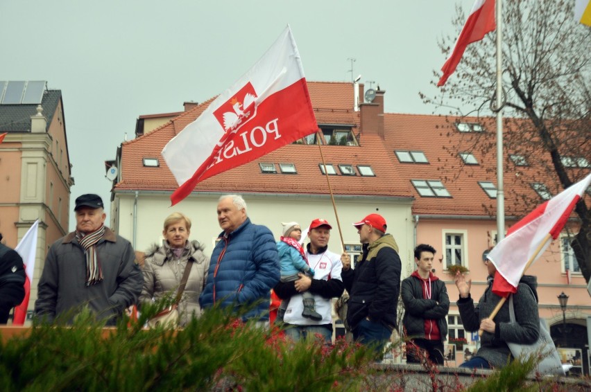
[[[366,317],[390,330],[397,328],[402,262],[395,246],[391,234],[363,245],[363,257],[355,269],[341,274],[350,296],[347,303],[350,328],[355,328]]]

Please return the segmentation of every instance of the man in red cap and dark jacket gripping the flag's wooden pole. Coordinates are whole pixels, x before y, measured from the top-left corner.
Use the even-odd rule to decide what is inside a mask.
[[[397,328],[402,262],[396,241],[386,234],[382,215],[370,214],[353,226],[363,244],[363,255],[355,269],[350,267],[350,258],[343,255],[343,281],[350,295],[347,322],[355,340],[375,344],[377,353],[382,355],[384,345]]]

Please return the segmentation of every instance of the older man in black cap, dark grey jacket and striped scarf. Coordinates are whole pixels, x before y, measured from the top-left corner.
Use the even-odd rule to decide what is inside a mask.
[[[98,195],[76,199],[76,231],[51,245],[39,280],[35,314],[53,323],[66,314],[71,323],[87,306],[97,319],[114,325],[137,302],[144,279],[128,240],[105,227]]]

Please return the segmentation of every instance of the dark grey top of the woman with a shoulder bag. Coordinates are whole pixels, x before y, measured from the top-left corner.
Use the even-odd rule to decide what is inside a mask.
[[[493,280],[490,280],[488,287],[481,296],[478,305],[474,306],[471,296],[465,299],[459,299],[458,308],[462,317],[462,323],[468,332],[475,332],[480,328],[480,321],[486,319],[497,303],[501,300],[500,296],[491,291]],[[529,287],[531,287],[531,290]],[[477,357],[483,357],[488,363],[496,368],[507,364],[513,356],[506,342],[515,342],[520,344],[532,344],[538,339],[540,333],[540,319],[538,316],[537,299],[531,295],[536,293],[536,277],[523,276],[517,287],[517,293],[513,294],[513,305],[515,307],[516,322],[509,321],[509,301],[505,301],[501,310],[493,321],[496,323],[495,333],[483,332],[481,337],[481,346],[477,352]],[[534,294],[536,295],[536,294]]]

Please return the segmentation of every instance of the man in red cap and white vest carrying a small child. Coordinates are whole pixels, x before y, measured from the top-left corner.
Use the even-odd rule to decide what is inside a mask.
[[[332,342],[332,303],[331,299],[343,294],[341,256],[328,250],[332,226],[324,219],[315,219],[308,230],[310,240],[306,248],[309,267],[314,269],[314,279],[306,274],[298,274],[300,278],[291,282],[280,282],[275,292],[281,299],[289,300],[283,321],[287,328],[285,334],[294,341],[316,335],[323,337],[325,343]],[[322,319],[314,320],[302,316],[305,308],[303,292],[314,294],[316,312]]]

